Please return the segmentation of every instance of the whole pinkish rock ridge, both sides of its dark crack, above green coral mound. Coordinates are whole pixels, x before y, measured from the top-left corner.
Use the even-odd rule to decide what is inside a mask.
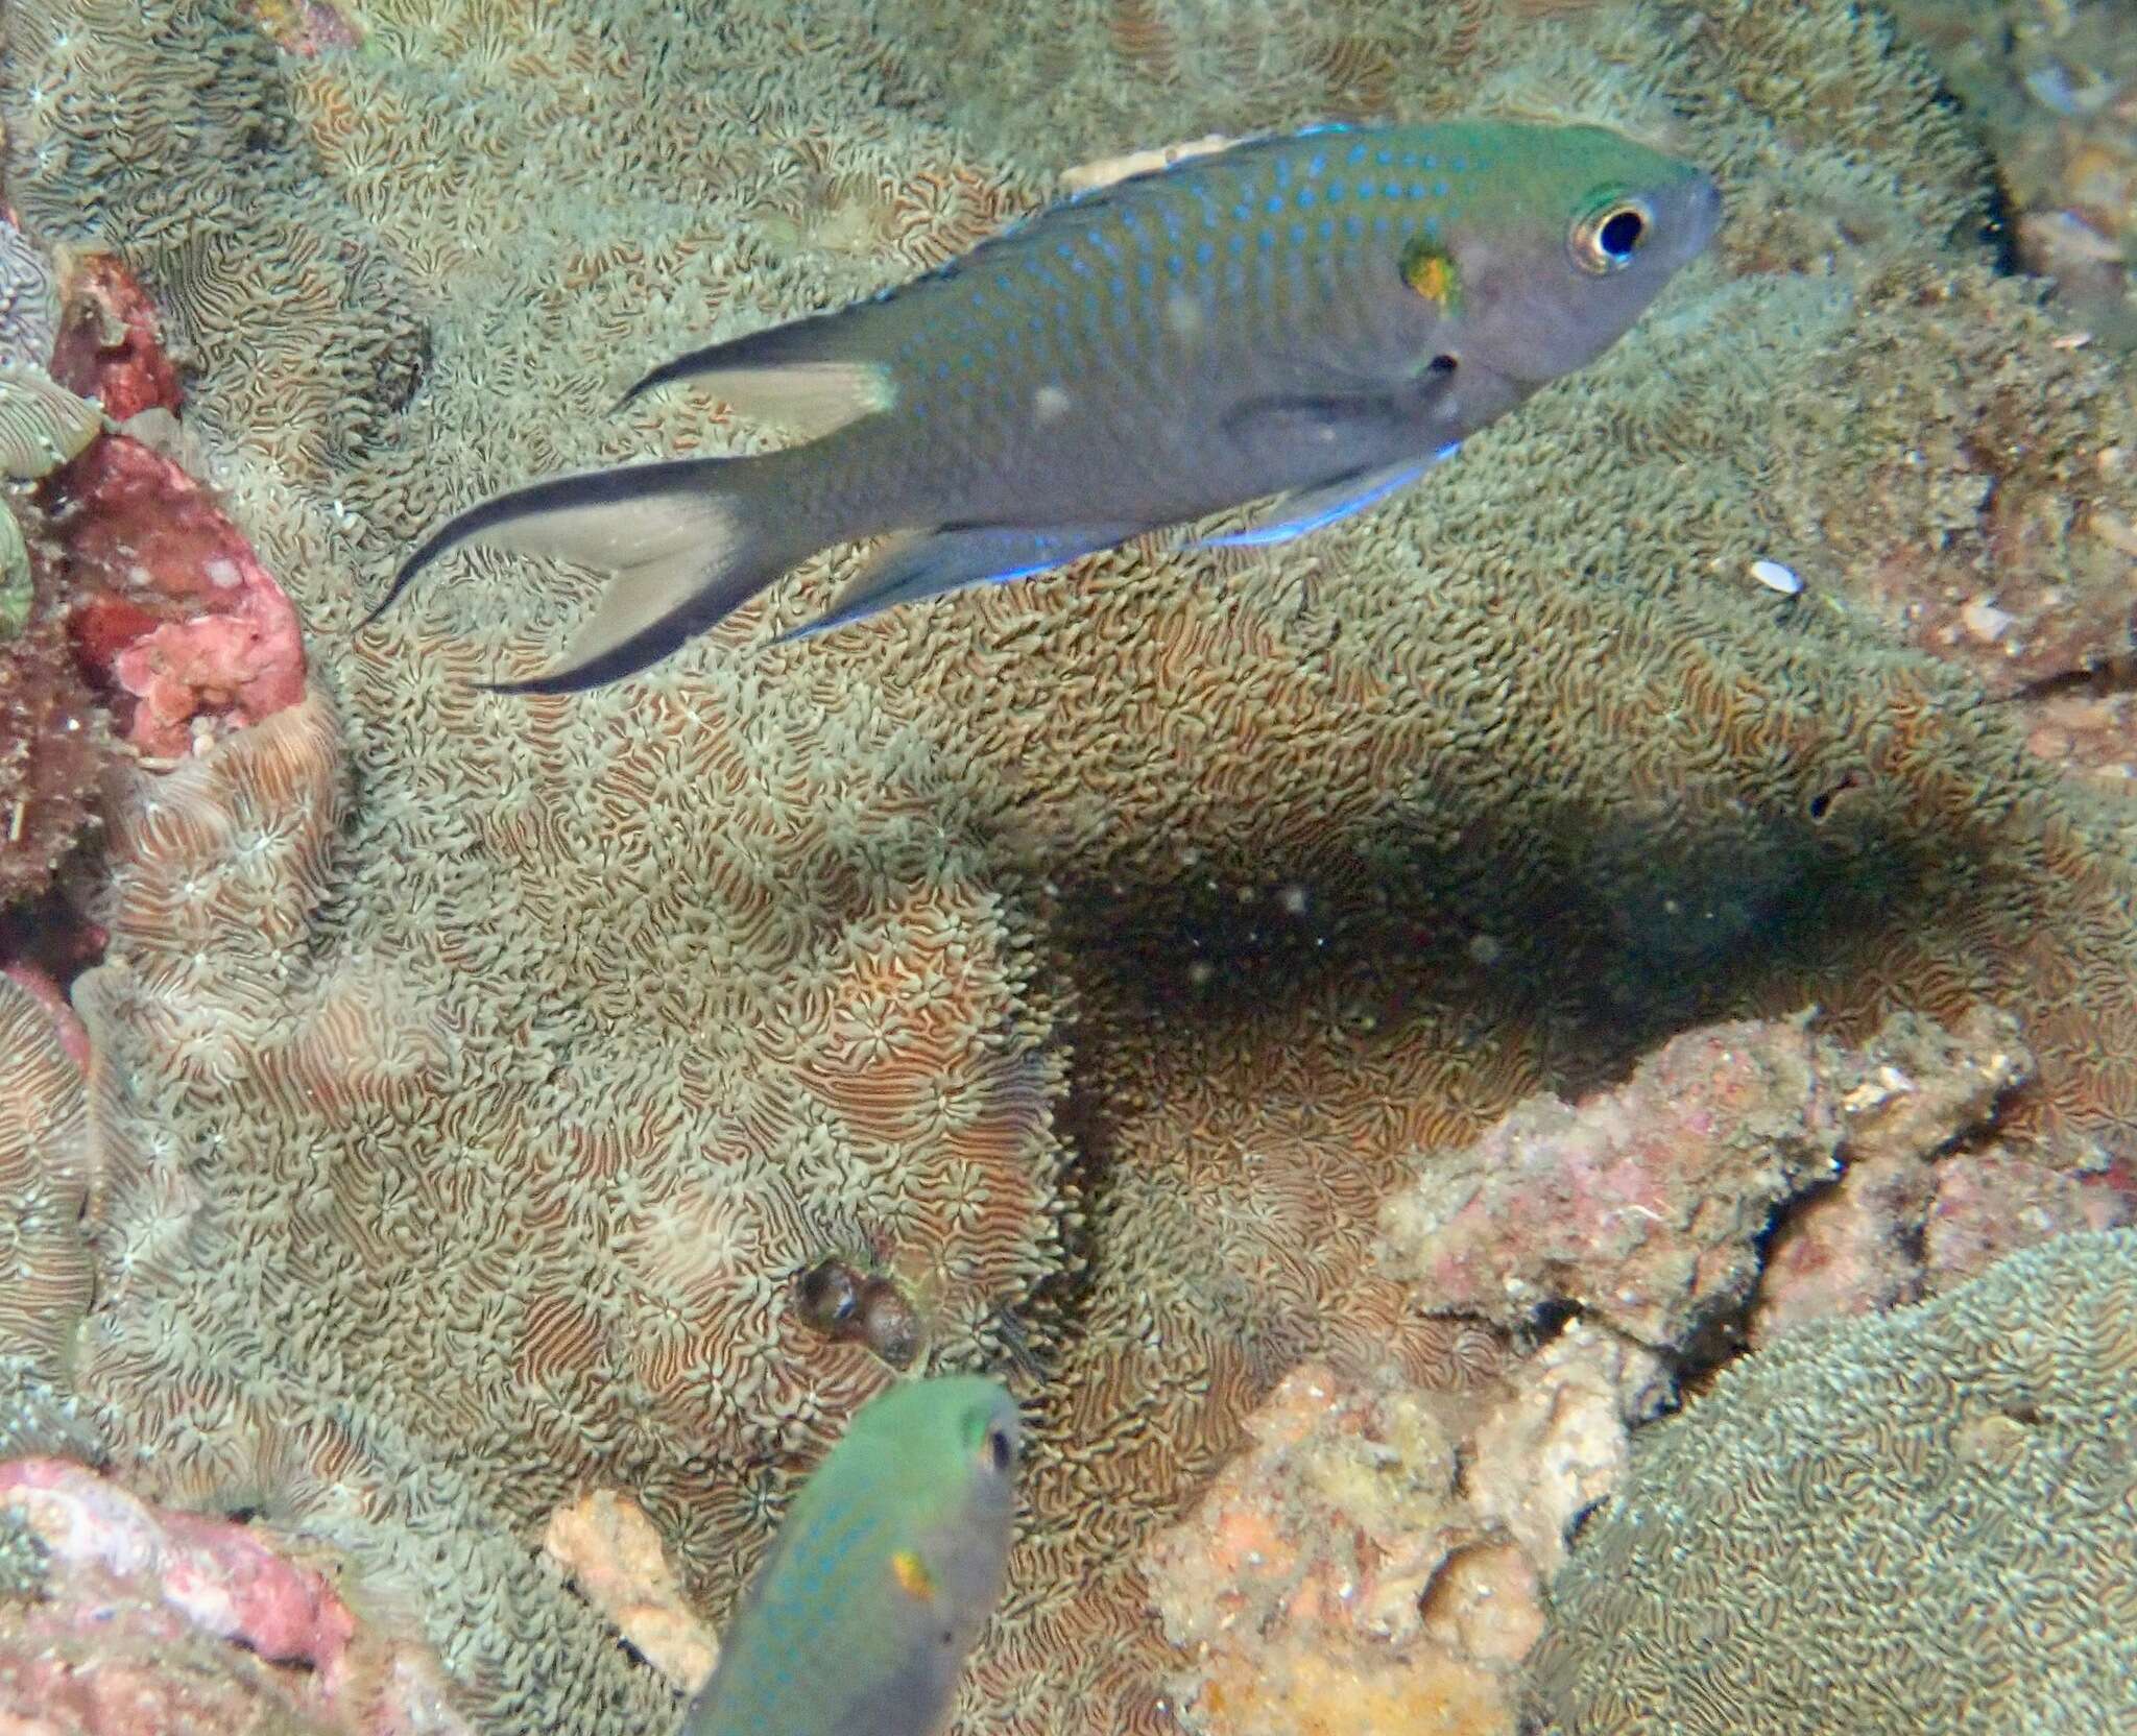
[[[2090,1146],[1977,1161],[2032,1069],[2017,1022],[1979,1005],[1951,1030],[1896,1013],[1861,1048],[1806,1018],[1690,1030],[1622,1086],[1425,1152],[1383,1259],[1436,1315],[1524,1328],[1573,1304],[1660,1351],[1876,1313],[1938,1287],[1925,1229],[1964,1276],[2128,1221],[2137,1184]]]

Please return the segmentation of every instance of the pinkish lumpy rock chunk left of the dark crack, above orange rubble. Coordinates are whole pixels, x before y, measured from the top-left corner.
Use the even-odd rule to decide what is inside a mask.
[[[1564,1300],[1682,1345],[1750,1296],[1776,1206],[1834,1174],[1840,1105],[1806,1026],[1690,1030],[1616,1090],[1532,1097],[1430,1152],[1383,1212],[1385,1268],[1436,1313],[1519,1326]]]

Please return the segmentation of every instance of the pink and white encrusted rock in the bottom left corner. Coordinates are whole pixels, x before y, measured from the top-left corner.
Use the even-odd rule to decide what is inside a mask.
[[[0,1464],[43,1556],[0,1601],[4,1736],[468,1736],[421,1646],[244,1524],[158,1512],[79,1464]]]

